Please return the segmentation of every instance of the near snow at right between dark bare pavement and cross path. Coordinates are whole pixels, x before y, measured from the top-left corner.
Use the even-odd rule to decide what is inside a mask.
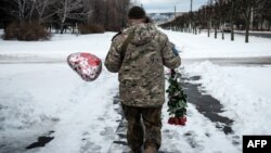
[[[224,105],[222,115],[234,119],[235,133],[271,133],[271,122],[268,122],[271,117],[270,65],[221,67],[207,61],[189,65],[185,69],[190,75],[202,76],[197,84],[205,85],[203,90]]]

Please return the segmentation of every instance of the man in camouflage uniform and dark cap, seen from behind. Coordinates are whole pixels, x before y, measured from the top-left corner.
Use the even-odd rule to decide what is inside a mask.
[[[181,59],[168,37],[154,24],[146,23],[142,8],[131,8],[128,22],[130,26],[113,38],[105,66],[112,73],[118,73],[131,152],[141,153],[144,148],[144,153],[156,153],[162,141],[164,66],[177,68]]]

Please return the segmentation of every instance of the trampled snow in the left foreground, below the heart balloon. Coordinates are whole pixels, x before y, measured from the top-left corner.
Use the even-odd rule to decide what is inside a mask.
[[[115,75],[104,71],[95,84],[88,84],[64,63],[3,64],[0,68],[4,72],[0,78],[1,137],[25,129],[39,130],[49,123],[51,127],[46,130],[55,131],[55,143],[49,143],[40,152],[79,152],[82,136],[91,136],[98,144],[100,141],[107,145],[112,142],[113,131],[118,126],[115,120],[120,117],[114,113],[112,103],[116,94]],[[91,130],[90,136],[87,129]],[[112,138],[95,139],[103,130],[111,130],[106,137]],[[37,138],[48,131],[28,135]],[[30,140],[26,145],[35,141]],[[106,145],[101,151],[105,152]]]

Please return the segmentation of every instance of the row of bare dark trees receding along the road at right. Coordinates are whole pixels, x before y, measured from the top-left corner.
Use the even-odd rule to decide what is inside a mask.
[[[163,27],[176,27],[196,33],[195,29],[210,29],[222,33],[224,26],[230,25],[231,40],[234,40],[234,29],[246,31],[245,42],[248,42],[249,30],[270,30],[271,1],[270,0],[214,0],[214,3],[203,5],[196,12],[184,13]]]

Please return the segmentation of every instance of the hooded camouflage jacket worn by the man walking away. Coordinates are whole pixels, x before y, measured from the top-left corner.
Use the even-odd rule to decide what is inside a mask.
[[[121,44],[130,33],[134,37],[121,61]],[[119,97],[124,104],[139,107],[164,104],[164,66],[177,68],[181,64],[172,48],[168,37],[153,24],[130,26],[113,39],[104,64],[109,72],[119,73]]]

